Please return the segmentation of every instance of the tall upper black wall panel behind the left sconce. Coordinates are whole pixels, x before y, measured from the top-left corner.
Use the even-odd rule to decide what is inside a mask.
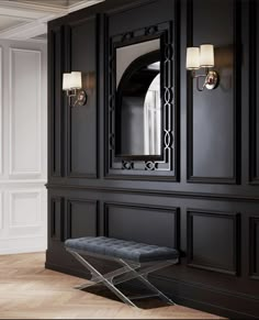
[[[70,24],[68,37],[70,48],[68,66],[72,71],[82,71],[83,87],[87,88],[88,95],[86,106],[68,108],[68,175],[95,178],[98,172],[97,60],[99,55],[95,16]],[[90,88],[87,87],[89,79],[91,79]]]

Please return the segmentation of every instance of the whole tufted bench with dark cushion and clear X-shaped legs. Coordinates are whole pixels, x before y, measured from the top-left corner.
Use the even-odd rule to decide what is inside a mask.
[[[105,236],[86,236],[69,239],[65,242],[66,250],[72,254],[92,275],[91,282],[77,288],[85,289],[95,284],[103,284],[110,288],[125,304],[136,307],[132,301],[134,298],[147,298],[159,296],[166,302],[172,305],[172,300],[149,283],[149,273],[178,263],[179,252],[171,247],[150,245],[134,241],[125,241]],[[111,260],[117,262],[122,267],[102,275],[83,256]],[[151,295],[126,297],[116,285],[138,279],[145,284]]]

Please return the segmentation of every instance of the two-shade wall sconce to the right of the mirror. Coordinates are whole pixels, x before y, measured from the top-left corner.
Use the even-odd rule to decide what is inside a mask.
[[[192,78],[196,79],[198,91],[203,91],[204,88],[213,90],[218,86],[219,76],[217,71],[210,70],[214,67],[214,46],[212,44],[202,44],[200,47],[187,48],[187,69],[192,71]],[[196,70],[204,68],[203,75],[196,75]],[[200,88],[200,78],[204,79]]]

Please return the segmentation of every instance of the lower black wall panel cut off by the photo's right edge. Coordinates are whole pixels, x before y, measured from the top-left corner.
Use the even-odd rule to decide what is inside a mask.
[[[259,217],[250,218],[250,276],[259,280]]]

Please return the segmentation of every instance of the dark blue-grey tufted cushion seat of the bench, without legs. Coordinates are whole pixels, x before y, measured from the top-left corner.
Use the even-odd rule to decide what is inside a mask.
[[[69,239],[65,242],[67,249],[123,258],[137,263],[177,260],[177,250],[166,246],[137,243],[105,236],[86,236]]]

